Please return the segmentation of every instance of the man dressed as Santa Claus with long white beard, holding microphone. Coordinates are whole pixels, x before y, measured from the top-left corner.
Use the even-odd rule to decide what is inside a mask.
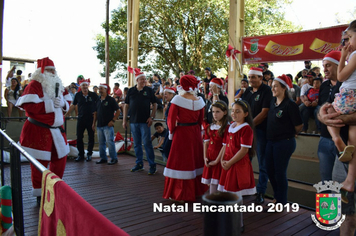
[[[54,63],[48,57],[37,60],[32,74],[16,106],[26,111],[20,135],[20,145],[45,167],[63,177],[69,146],[63,129],[63,112],[72,101],[58,77]],[[42,173],[31,164],[32,194],[40,203]]]

